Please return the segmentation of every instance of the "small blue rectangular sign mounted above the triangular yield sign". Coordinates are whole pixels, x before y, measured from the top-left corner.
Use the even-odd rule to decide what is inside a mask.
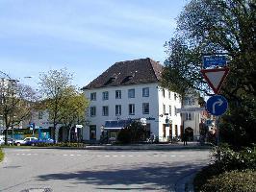
[[[203,66],[226,66],[227,60],[225,56],[204,56],[203,57]]]

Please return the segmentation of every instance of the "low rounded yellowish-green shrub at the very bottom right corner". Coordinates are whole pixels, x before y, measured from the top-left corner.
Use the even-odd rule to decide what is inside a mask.
[[[231,171],[218,175],[202,185],[200,191],[255,192],[256,172],[253,170]]]

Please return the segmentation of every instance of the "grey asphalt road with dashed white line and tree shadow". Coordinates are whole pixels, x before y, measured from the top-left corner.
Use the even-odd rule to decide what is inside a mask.
[[[0,191],[177,191],[209,161],[207,150],[5,149]]]

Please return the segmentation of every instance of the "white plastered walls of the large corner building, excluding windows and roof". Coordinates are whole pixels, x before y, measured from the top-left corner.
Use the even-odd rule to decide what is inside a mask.
[[[142,88],[149,87],[149,97],[142,97]],[[128,89],[135,88],[135,98],[128,98]],[[121,99],[115,99],[115,90],[121,90]],[[102,100],[102,92],[109,91],[109,100]],[[168,115],[168,118],[172,120],[172,126],[178,126],[178,132],[181,125],[180,115],[174,115],[174,107],[180,108],[181,104],[179,99],[174,100],[174,93],[171,93],[171,98],[168,98],[168,91],[166,90],[166,97],[162,95],[162,88],[154,84],[134,84],[123,86],[103,87],[96,89],[86,89],[85,96],[90,100],[90,93],[96,92],[96,101],[90,101],[90,107],[96,107],[96,115],[90,117],[90,108],[86,120],[90,122],[85,126],[84,138],[90,139],[90,125],[96,125],[96,138],[100,138],[100,127],[105,125],[107,120],[117,120],[115,116],[115,105],[121,105],[121,115],[119,119],[138,119],[138,118],[153,118],[154,120],[147,120],[150,123],[150,130],[160,139],[163,136],[163,124],[166,123],[166,115],[160,117],[163,111],[163,104],[166,104],[166,112],[168,112],[168,106],[172,106],[172,114]],[[142,114],[142,103],[149,103],[149,114]],[[135,115],[129,115],[129,104],[135,104]],[[109,107],[109,116],[102,116],[102,107]],[[173,131],[174,132],[174,131]],[[168,129],[166,129],[166,136],[168,136]]]

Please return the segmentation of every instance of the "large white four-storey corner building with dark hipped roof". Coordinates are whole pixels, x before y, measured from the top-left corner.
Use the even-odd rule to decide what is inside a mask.
[[[148,58],[120,61],[86,85],[83,90],[90,108],[83,138],[99,140],[102,128],[115,137],[125,120],[141,118],[160,141],[180,136],[181,117],[176,108],[181,108],[181,101],[176,93],[160,86],[162,69]]]

